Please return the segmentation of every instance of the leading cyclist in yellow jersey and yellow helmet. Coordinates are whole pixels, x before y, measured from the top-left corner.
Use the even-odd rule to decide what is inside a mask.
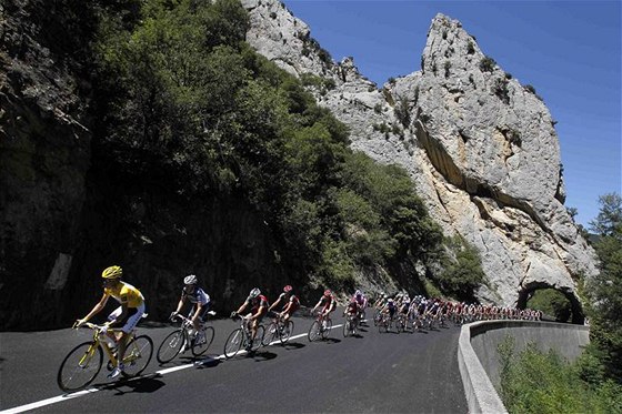
[[[108,335],[119,344],[119,352],[117,356],[118,364],[112,370],[110,375],[114,378],[121,374],[126,368],[123,363],[123,356],[126,355],[126,346],[128,339],[131,336],[130,333],[137,325],[138,321],[144,314],[144,297],[142,293],[129,283],[122,282],[121,276],[123,275],[123,270],[120,266],[110,266],[103,270],[101,277],[103,277],[103,296],[93,306],[91,312],[81,320],[76,322],[76,326],[80,327],[87,323],[92,316],[101,312],[101,310],[108,303],[110,296],[114,297],[121,306],[117,307],[110,315],[108,315],[108,321],[104,326],[108,327],[119,327],[121,326],[121,333],[119,337],[108,333]]]

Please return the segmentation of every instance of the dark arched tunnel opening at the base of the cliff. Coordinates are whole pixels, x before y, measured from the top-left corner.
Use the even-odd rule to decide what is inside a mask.
[[[519,309],[535,309],[556,322],[583,324],[583,306],[572,291],[555,289],[546,283],[533,283],[523,287],[516,302]]]

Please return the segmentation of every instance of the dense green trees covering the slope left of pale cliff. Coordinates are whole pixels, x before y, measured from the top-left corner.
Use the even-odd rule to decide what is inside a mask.
[[[407,172],[353,153],[348,129],[250,49],[238,1],[147,1],[141,19],[123,16],[102,11],[96,47],[96,168],[197,202],[234,194],[265,218],[275,250],[327,283],[437,249]]]

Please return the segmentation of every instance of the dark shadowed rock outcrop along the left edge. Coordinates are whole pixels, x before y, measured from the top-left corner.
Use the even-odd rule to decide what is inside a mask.
[[[4,2],[0,20],[0,320],[52,313],[61,295],[86,198],[91,134],[79,80],[50,48],[33,10]],[[11,18],[4,18],[11,17]]]

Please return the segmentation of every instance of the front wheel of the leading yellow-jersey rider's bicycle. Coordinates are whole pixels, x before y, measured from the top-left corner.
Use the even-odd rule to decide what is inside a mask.
[[[84,342],[67,354],[60,364],[57,382],[62,391],[80,390],[99,374],[103,352],[97,342]]]

